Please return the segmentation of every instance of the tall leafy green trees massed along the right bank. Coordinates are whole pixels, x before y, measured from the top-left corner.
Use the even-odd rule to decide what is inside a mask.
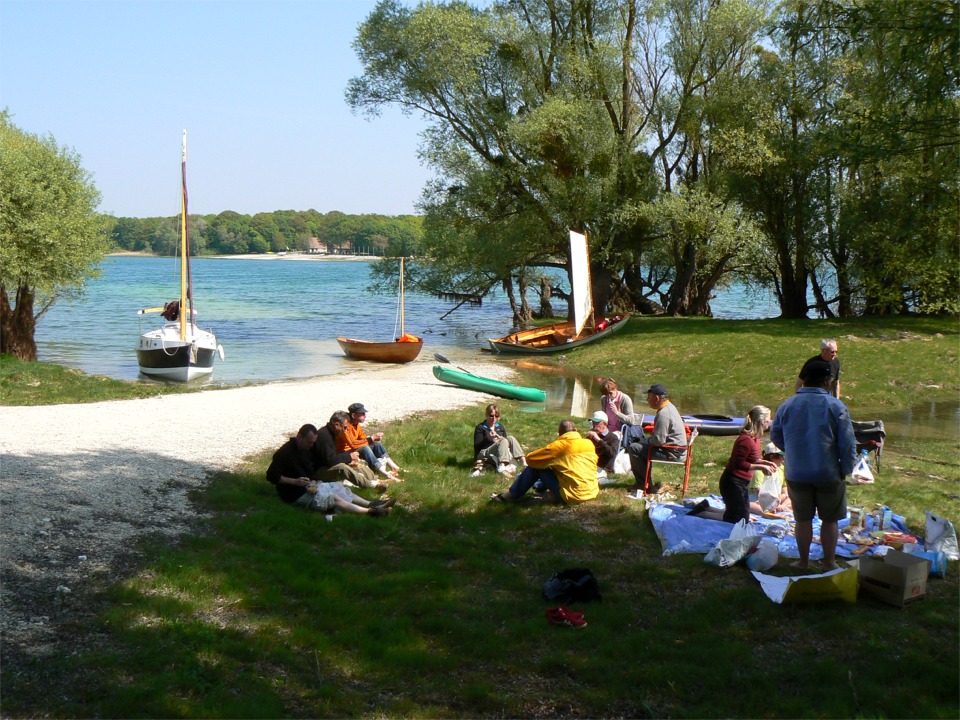
[[[711,285],[685,281],[710,243],[639,210],[686,189],[752,215],[764,242],[721,274],[749,271],[785,317],[806,316],[810,291],[826,316],[955,313],[957,8],[384,0],[347,102],[429,123],[434,287],[522,295],[526,268],[562,264],[566,229],[586,228],[599,310],[705,314]]]

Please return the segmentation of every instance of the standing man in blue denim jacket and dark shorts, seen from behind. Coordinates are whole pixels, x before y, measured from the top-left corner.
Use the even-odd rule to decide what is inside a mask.
[[[807,363],[806,371],[803,387],[777,410],[770,440],[786,452],[787,491],[800,551],[794,567],[803,570],[810,565],[816,513],[820,517],[823,569],[833,570],[837,567],[837,523],[847,515],[844,478],[853,472],[857,439],[847,407],[828,392],[830,363],[814,359]]]

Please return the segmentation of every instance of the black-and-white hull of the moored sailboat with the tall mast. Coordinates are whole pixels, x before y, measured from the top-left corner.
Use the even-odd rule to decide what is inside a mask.
[[[141,373],[178,382],[189,382],[212,373],[217,354],[216,335],[197,328],[182,341],[177,323],[145,332],[137,343]]]

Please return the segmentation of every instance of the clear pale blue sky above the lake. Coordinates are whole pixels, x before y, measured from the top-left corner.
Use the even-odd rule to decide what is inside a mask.
[[[373,0],[0,0],[0,107],[76,150],[116,216],[414,212],[420,118],[344,102]]]

